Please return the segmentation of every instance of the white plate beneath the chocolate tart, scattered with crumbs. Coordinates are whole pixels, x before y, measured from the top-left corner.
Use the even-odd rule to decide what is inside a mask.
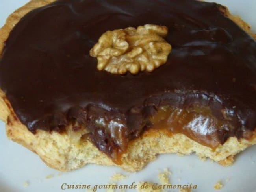
[[[0,0],[0,26],[7,16],[28,0]],[[215,0],[227,5],[233,14],[239,14],[249,22],[256,31],[255,0]],[[256,191],[256,146],[250,147],[236,157],[234,165],[220,166],[209,160],[202,162],[195,155],[179,157],[176,154],[159,155],[156,161],[149,163],[140,172],[129,174],[117,167],[88,165],[80,170],[63,173],[47,167],[41,159],[26,148],[6,138],[4,123],[0,122],[0,192],[58,192],[62,183],[96,184],[109,183],[109,177],[115,172],[130,177],[119,184],[130,184],[134,181],[158,182],[157,174],[169,167],[172,184],[192,183],[197,185],[197,192],[215,191],[213,185],[221,180],[223,192],[254,192]],[[47,175],[53,175],[46,179]],[[226,179],[230,179],[226,181]],[[24,187],[25,181],[29,182]],[[65,190],[79,191],[85,190]],[[98,190],[102,191],[102,190]],[[177,190],[170,190],[177,191]]]

